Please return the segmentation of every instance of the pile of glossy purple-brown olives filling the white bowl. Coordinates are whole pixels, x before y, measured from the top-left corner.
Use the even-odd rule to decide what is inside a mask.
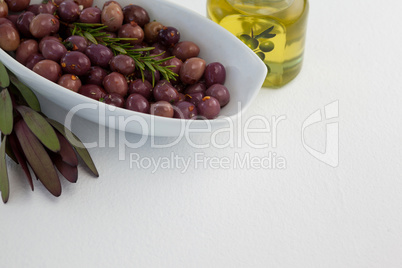
[[[225,67],[207,64],[200,48],[180,41],[180,32],[151,21],[138,5],[121,7],[93,0],[0,0],[0,47],[37,74],[59,85],[120,108],[157,116],[213,119],[230,99],[224,86]],[[160,63],[177,76],[167,81],[150,70],[141,72],[135,60],[109,47],[72,35],[71,24],[101,23],[109,37],[126,40],[133,49],[149,48],[144,56],[167,59]]]

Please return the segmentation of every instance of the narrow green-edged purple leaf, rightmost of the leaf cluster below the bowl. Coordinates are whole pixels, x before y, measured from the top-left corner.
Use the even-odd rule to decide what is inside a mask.
[[[99,177],[98,170],[96,169],[96,166],[91,158],[91,155],[85,148],[85,145],[80,141],[80,139],[78,139],[78,137],[75,136],[74,133],[72,133],[68,128],[64,127],[59,122],[50,118],[47,118],[47,121],[71,143],[71,145],[74,147],[75,151],[81,157],[81,159],[84,161],[87,167],[92,171],[92,173],[96,177]]]

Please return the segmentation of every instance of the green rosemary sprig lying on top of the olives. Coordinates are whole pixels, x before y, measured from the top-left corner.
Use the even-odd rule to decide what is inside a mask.
[[[149,52],[154,47],[134,48],[133,45],[124,41],[137,40],[136,38],[112,38],[103,30],[107,27],[101,23],[73,23],[69,27],[72,28],[73,35],[80,35],[87,38],[91,43],[102,44],[109,47],[115,55],[125,54],[130,56],[135,61],[136,69],[141,72],[142,79],[144,80],[144,71],[149,70],[152,75],[152,84],[155,84],[155,71],[159,71],[164,79],[170,81],[176,80],[177,74],[170,68],[174,66],[162,66],[161,64],[172,57],[164,59],[155,59],[162,55],[149,55]],[[146,52],[145,55],[142,53]]]

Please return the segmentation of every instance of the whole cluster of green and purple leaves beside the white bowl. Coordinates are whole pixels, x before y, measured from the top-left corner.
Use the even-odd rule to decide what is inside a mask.
[[[0,193],[4,203],[8,201],[10,194],[6,155],[22,167],[32,190],[34,186],[31,171],[54,196],[59,196],[62,191],[59,173],[70,182],[77,181],[77,154],[99,177],[84,144],[70,130],[64,129],[63,125],[56,121],[50,124],[40,112],[35,94],[1,62],[0,132]],[[70,144],[68,138],[74,143]]]

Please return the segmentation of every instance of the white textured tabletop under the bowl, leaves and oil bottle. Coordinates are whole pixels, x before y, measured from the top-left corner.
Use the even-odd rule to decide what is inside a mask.
[[[205,1],[174,2],[205,14]],[[270,121],[285,115],[275,148],[254,149],[241,138],[233,148],[194,149],[182,140],[154,149],[148,140],[125,154],[233,159],[271,152],[286,159],[283,170],[192,164],[184,174],[174,168],[152,173],[119,161],[118,148],[106,141],[91,149],[101,177],[80,169],[78,183],[63,182],[62,196],[53,198],[39,183],[30,192],[9,161],[0,266],[401,267],[401,8],[391,0],[311,1],[302,72],[283,89],[261,90],[243,116],[245,123],[256,114]],[[301,137],[309,115],[334,101],[339,118],[329,122],[339,122],[335,168],[307,152]],[[62,118],[52,109],[46,112]],[[74,131],[87,142],[97,140],[97,127],[86,121]],[[324,150],[325,123],[304,134],[306,145]],[[127,135],[132,142],[139,138]],[[264,143],[272,135],[250,138]]]

